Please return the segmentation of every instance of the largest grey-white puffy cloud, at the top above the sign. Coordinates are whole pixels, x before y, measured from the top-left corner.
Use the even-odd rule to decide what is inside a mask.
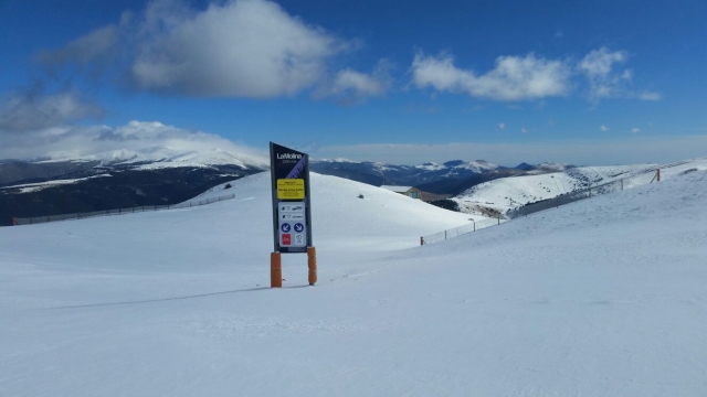
[[[131,73],[146,89],[194,96],[275,97],[310,87],[345,43],[261,0],[203,12],[148,6]],[[169,7],[168,7],[169,6]],[[165,29],[163,26],[168,26]]]

